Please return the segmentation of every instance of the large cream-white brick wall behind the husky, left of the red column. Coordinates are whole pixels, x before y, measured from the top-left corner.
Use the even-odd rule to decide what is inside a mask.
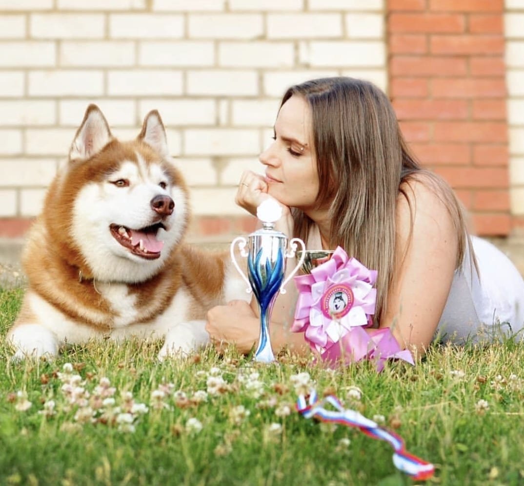
[[[0,0],[0,217],[39,212],[90,103],[123,139],[158,109],[194,213],[243,214],[238,178],[263,172],[289,85],[355,75],[387,89],[384,11],[385,0]],[[521,111],[516,99],[519,132]]]

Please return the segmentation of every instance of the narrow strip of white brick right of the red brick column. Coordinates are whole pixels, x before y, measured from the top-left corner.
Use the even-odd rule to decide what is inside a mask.
[[[524,214],[524,0],[506,0],[506,9],[510,201]]]

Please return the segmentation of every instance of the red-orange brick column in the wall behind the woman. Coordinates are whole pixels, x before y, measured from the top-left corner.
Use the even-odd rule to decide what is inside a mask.
[[[511,229],[504,0],[388,0],[390,97],[481,235]]]

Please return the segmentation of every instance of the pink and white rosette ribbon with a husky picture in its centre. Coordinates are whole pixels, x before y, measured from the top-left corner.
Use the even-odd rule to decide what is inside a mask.
[[[292,332],[303,332],[323,360],[346,364],[373,359],[377,371],[389,358],[410,364],[413,357],[400,346],[388,327],[368,329],[375,313],[376,270],[349,258],[338,246],[333,256],[310,274],[294,277],[299,291]]]

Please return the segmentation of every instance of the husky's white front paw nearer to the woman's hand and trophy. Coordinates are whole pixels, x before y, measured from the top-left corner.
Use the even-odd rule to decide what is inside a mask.
[[[158,353],[158,359],[183,357],[209,342],[205,321],[188,321],[178,324],[166,334],[166,341]]]

